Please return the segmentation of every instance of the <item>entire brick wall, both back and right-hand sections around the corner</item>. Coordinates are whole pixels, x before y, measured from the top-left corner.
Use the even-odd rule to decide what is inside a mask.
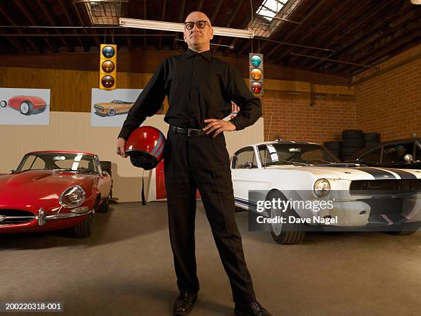
[[[378,76],[374,76],[376,70],[356,76],[355,101],[316,100],[310,106],[309,96],[266,90],[263,96],[265,140],[279,135],[288,140],[324,143],[341,140],[343,129],[355,128],[376,131],[382,140],[410,138],[413,133],[421,136],[420,54],[421,45],[418,45],[381,63],[377,71],[384,72],[411,58],[415,61]],[[364,78],[369,79],[358,83]]]

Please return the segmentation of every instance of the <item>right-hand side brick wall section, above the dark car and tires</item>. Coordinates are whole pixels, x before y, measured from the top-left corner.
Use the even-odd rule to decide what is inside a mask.
[[[382,140],[421,136],[421,45],[382,63],[380,72],[402,61],[415,61],[396,67],[356,84],[356,125],[363,131],[376,131]],[[355,82],[373,70],[354,78]]]

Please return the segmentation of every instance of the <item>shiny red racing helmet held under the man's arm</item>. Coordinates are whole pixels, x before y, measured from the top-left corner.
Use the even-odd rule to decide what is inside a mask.
[[[165,136],[162,131],[151,126],[135,129],[126,142],[126,154],[135,167],[150,170],[164,157]]]

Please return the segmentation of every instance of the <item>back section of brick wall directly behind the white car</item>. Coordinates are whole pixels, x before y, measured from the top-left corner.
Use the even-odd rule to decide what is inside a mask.
[[[283,96],[270,90],[263,97],[263,118],[265,140],[279,135],[285,140],[323,144],[340,140],[343,129],[356,127],[354,101],[316,100],[310,106],[308,98]]]

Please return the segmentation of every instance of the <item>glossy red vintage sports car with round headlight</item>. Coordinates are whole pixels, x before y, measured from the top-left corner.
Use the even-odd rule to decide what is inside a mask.
[[[91,235],[92,214],[109,209],[111,177],[98,156],[76,151],[34,151],[0,176],[0,234],[69,229]]]

